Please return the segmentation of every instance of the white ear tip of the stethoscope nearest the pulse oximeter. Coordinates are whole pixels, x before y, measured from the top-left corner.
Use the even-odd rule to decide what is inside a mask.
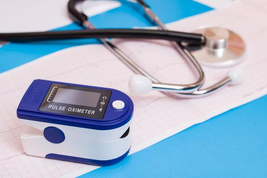
[[[132,75],[129,81],[129,91],[132,94],[145,94],[152,90],[151,79],[143,75]]]

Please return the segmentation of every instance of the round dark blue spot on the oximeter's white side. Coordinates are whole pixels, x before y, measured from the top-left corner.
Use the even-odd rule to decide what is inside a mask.
[[[52,143],[62,143],[65,140],[65,134],[56,127],[45,128],[44,137]]]

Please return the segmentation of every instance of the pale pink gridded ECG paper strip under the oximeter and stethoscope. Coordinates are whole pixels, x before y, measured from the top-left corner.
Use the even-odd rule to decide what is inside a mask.
[[[245,39],[247,52],[244,61],[239,65],[246,71],[244,82],[227,86],[206,98],[181,99],[157,91],[141,96],[131,95],[128,92],[128,79],[133,74],[132,71],[102,45],[84,45],[58,51],[1,74],[0,176],[72,177],[98,168],[25,155],[20,142],[24,126],[16,117],[16,109],[29,84],[37,78],[112,87],[128,94],[135,105],[131,126],[131,154],[194,124],[265,95],[266,8],[265,1],[242,1],[235,7],[208,12],[168,25],[170,29],[186,32],[202,24],[220,25],[230,27]],[[168,42],[114,42],[137,64],[161,81],[189,83],[197,78],[194,71],[181,60]],[[203,67],[203,70],[206,74],[206,86],[224,77],[228,69]]]

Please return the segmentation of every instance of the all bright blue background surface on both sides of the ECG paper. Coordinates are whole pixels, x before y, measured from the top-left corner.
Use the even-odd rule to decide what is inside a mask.
[[[210,11],[191,0],[146,0],[164,23]],[[150,26],[141,11],[123,6],[94,16],[97,27]],[[54,29],[79,29],[76,24]],[[0,48],[0,72],[71,46],[96,40],[12,43]],[[197,102],[197,100],[196,100]],[[80,177],[267,177],[267,96],[227,111],[202,124],[128,156],[113,166]]]

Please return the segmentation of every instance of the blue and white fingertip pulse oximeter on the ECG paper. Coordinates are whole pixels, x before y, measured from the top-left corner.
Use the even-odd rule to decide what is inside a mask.
[[[125,158],[133,102],[111,88],[34,80],[17,109],[27,155],[94,165]]]

